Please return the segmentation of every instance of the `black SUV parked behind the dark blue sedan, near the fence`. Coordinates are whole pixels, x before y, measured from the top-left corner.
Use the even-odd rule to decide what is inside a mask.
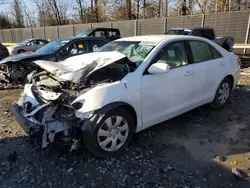
[[[81,31],[77,37],[104,37],[109,40],[116,40],[121,37],[120,30],[116,28],[93,28]]]

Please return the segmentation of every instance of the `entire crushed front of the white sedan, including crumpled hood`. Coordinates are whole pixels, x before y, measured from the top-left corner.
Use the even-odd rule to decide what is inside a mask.
[[[100,56],[104,57],[100,59]],[[99,96],[96,88],[105,90],[134,68],[132,65],[129,68],[129,60],[118,52],[89,58],[78,66],[73,66],[76,60],[84,58],[73,57],[63,63],[35,62],[44,71],[33,71],[27,76],[29,84],[25,85],[20,99],[13,103],[12,112],[18,123],[30,136],[40,139],[43,148],[60,143],[70,145],[71,150],[77,149],[83,134],[86,136],[90,131],[86,128],[92,122],[90,118],[105,99],[102,95],[105,92],[100,92]],[[98,97],[88,100],[86,95]]]

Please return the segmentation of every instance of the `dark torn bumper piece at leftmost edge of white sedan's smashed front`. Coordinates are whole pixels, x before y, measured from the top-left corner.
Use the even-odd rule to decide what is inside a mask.
[[[41,126],[35,125],[23,116],[22,107],[20,107],[16,102],[12,104],[11,111],[20,127],[30,136],[36,135],[42,129]]]

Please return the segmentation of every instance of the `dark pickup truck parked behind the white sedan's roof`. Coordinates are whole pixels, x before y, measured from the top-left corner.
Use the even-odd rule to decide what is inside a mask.
[[[167,32],[167,35],[189,35],[204,37],[214,41],[227,51],[233,51],[234,38],[233,37],[216,37],[213,28],[209,27],[192,27],[192,28],[171,28]]]

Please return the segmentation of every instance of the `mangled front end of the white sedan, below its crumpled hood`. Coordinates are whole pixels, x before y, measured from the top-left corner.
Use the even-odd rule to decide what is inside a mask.
[[[77,149],[83,120],[75,116],[70,106],[76,92],[60,88],[56,81],[45,81],[46,86],[41,82],[26,84],[20,99],[13,103],[12,112],[23,130],[41,141],[42,148],[59,143]],[[52,84],[48,86],[47,82]]]

